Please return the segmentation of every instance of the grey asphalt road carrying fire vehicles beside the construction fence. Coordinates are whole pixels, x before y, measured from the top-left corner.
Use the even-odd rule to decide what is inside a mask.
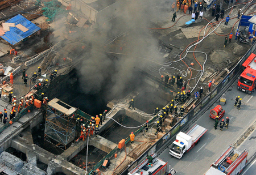
[[[216,101],[216,103],[214,103],[213,106],[211,106],[210,109],[195,122],[195,124],[208,129],[207,133],[202,136],[197,146],[192,148],[192,150],[186,153],[181,159],[171,157],[168,153],[168,149],[164,150],[159,155],[160,159],[168,161],[168,165],[171,165],[172,168],[177,171],[177,175],[206,173],[213,161],[256,121],[255,93],[254,95],[248,95],[238,91],[236,87],[237,81],[226,91],[227,103],[222,106],[222,108],[226,110],[224,118],[230,118],[228,129],[221,131],[218,128],[217,130],[214,130],[214,120],[209,117],[209,111],[218,105],[218,101]],[[234,99],[236,96],[242,98],[241,110],[234,107]],[[256,166],[252,167],[256,169]]]

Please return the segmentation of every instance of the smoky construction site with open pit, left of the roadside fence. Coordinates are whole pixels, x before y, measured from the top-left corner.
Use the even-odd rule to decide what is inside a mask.
[[[146,152],[188,129],[255,45],[255,31],[248,43],[237,42],[234,33],[249,28],[256,3],[217,0],[224,19],[216,22],[210,3],[203,20],[186,26],[188,12],[177,11],[171,22],[173,2],[0,0],[0,111],[8,115],[7,123],[0,122],[0,174],[127,174]],[[244,25],[240,8],[249,20]],[[177,100],[188,91],[191,97]],[[31,95],[34,103],[10,119]],[[48,101],[41,103],[42,97]],[[167,111],[159,132],[159,116],[172,100],[177,113]],[[82,139],[83,127],[100,114],[105,119],[97,136],[94,131]]]

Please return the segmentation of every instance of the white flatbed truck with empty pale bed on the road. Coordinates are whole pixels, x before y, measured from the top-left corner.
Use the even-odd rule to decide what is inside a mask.
[[[196,124],[187,134],[180,132],[177,134],[176,140],[171,144],[170,155],[181,159],[184,153],[190,151],[200,141],[201,136],[206,131],[207,129]]]

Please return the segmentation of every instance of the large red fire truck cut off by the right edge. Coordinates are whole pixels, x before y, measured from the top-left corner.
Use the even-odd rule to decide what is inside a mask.
[[[253,93],[256,85],[256,55],[251,54],[242,64],[245,70],[238,78],[237,89],[246,93]]]

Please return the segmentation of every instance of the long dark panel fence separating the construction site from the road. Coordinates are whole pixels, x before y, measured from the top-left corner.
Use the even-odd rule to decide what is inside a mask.
[[[225,89],[230,86],[234,82],[234,80],[237,79],[237,77],[242,72],[242,63],[250,56],[251,53],[255,53],[256,51],[256,45],[254,44],[251,46],[251,48],[246,52],[246,54],[241,58],[241,60],[237,63],[237,65],[232,69],[232,71],[229,72],[228,75],[225,76],[224,79],[220,83],[218,83],[218,86],[213,89],[212,92],[209,93],[209,95],[205,96],[202,101],[200,101],[199,104],[195,106],[189,113],[187,113],[179,122],[176,123],[174,127],[172,127],[171,130],[169,130],[162,138],[160,138],[153,146],[148,148],[146,152],[144,152],[137,160],[133,162],[133,164],[130,165],[129,168],[127,168],[122,175],[127,174],[127,172],[130,172],[134,167],[138,165],[138,163],[141,162],[147,155],[148,152],[156,152],[160,153],[170,144],[174,141],[176,134],[179,131],[185,131],[188,129],[192,123],[194,123],[197,118],[201,116],[208,108],[217,100],[220,98],[222,93],[225,92]]]

